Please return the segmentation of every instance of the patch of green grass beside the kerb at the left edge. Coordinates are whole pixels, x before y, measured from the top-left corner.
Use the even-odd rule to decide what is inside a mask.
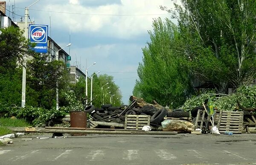
[[[24,119],[10,119],[10,118],[0,118],[0,136],[13,133],[12,130],[7,127],[28,127],[31,126]]]

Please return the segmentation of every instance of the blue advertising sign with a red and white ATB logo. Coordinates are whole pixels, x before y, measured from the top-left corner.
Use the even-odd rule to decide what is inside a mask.
[[[29,25],[29,40],[36,43],[31,48],[37,53],[47,53],[48,25]]]

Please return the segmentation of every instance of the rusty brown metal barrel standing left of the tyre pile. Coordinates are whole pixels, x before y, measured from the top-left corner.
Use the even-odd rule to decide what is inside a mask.
[[[87,112],[70,111],[70,127],[86,128],[87,127]]]

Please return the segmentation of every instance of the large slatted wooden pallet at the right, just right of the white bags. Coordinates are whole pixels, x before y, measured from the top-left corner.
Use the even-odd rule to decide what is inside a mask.
[[[243,117],[243,111],[220,111],[217,124],[219,132],[242,133]]]

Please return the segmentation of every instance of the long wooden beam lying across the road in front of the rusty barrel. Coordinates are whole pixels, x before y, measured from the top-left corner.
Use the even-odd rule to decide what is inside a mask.
[[[9,127],[14,132],[26,132],[25,127]],[[31,133],[31,132],[29,132]],[[132,130],[67,130],[35,128],[34,133],[86,133],[86,134],[134,134],[134,135],[176,135],[176,131],[132,131]]]

